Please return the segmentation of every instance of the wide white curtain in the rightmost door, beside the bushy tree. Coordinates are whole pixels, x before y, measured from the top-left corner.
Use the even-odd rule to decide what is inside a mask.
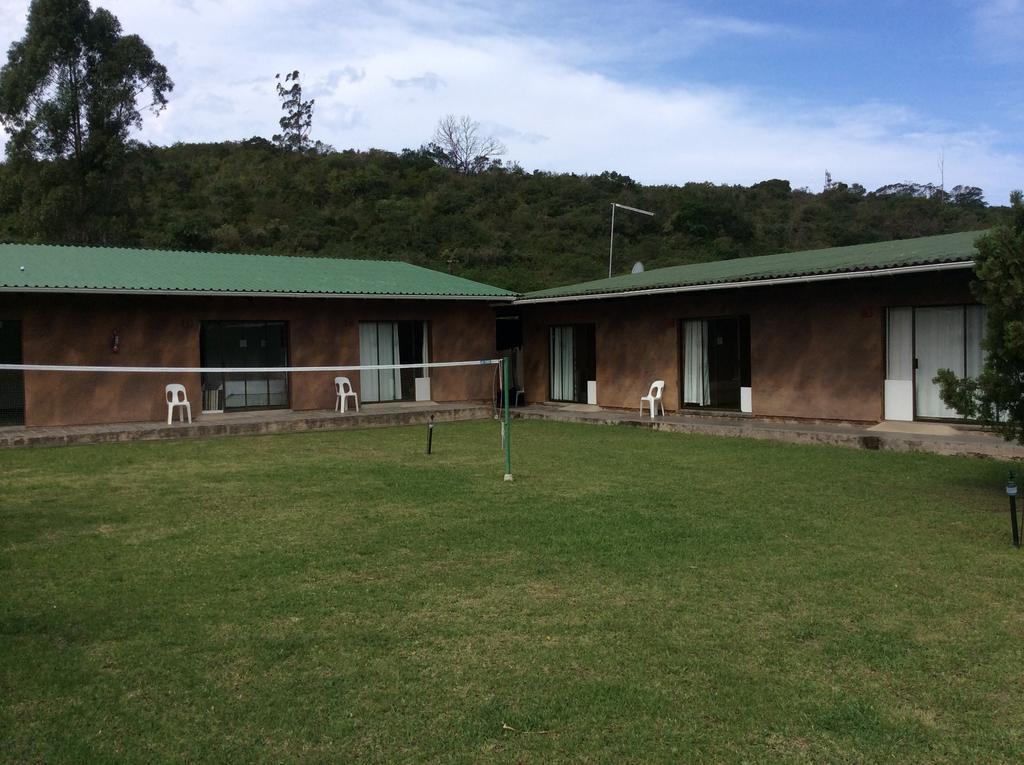
[[[914,315],[918,352],[918,416],[956,417],[932,382],[941,369],[964,376],[964,306],[918,308]]]

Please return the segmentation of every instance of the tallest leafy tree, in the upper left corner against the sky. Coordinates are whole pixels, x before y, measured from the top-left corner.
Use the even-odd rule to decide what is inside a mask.
[[[104,240],[131,214],[121,187],[131,130],[174,87],[137,35],[88,0],[33,0],[0,70],[0,122],[39,238]],[[45,161],[39,163],[37,161]]]

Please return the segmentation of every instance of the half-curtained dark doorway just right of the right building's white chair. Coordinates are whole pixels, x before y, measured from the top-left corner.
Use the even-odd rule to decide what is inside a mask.
[[[751,384],[750,316],[682,323],[684,407],[738,410]]]

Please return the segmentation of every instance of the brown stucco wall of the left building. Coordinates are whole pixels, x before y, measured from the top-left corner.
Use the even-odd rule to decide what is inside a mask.
[[[198,367],[200,323],[243,318],[288,322],[290,364],[298,367],[358,364],[358,323],[374,320],[430,322],[434,360],[495,354],[495,309],[486,301],[6,294],[0,318],[22,321],[26,364]],[[115,329],[118,353],[111,349]],[[433,371],[433,399],[489,399],[488,370]],[[292,409],[333,408],[334,377],[291,375]],[[349,377],[358,390],[358,374]],[[185,385],[198,415],[198,374],[26,373],[26,424],[164,419],[163,390],[171,382]]]

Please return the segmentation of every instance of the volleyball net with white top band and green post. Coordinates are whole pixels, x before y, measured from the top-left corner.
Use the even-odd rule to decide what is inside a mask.
[[[180,421],[182,412],[169,407],[169,386],[183,387],[189,418],[274,409],[355,414],[366,405],[487,400],[501,421],[505,479],[512,476],[507,357],[267,367],[0,364],[0,378],[23,407],[31,407],[38,393],[47,401],[49,420],[61,425],[162,420],[164,415],[170,420],[172,414]]]

